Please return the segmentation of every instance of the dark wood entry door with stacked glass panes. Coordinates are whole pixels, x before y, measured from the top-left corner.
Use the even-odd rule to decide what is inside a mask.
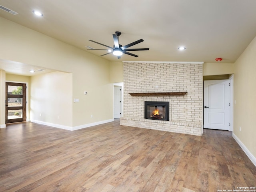
[[[26,121],[26,84],[6,82],[5,123]]]

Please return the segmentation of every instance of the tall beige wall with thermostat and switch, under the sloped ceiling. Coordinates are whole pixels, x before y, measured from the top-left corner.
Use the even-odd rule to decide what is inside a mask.
[[[1,17],[0,26],[1,59],[72,73],[72,90],[66,90],[73,97],[72,126],[113,119],[110,62]],[[88,95],[84,95],[84,91],[88,91]],[[74,103],[74,98],[80,102]],[[62,104],[58,108],[65,110]],[[33,112],[30,114],[34,118]],[[70,122],[60,124],[70,126]]]

